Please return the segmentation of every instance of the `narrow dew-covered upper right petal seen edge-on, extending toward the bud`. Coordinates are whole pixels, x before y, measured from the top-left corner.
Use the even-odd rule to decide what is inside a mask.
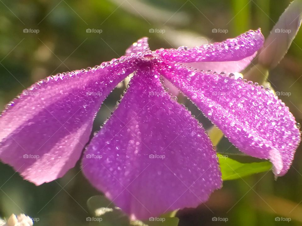
[[[236,38],[199,47],[159,49],[155,51],[165,62],[224,62],[239,61],[253,56],[263,45],[264,37],[260,29],[249,30]],[[215,68],[213,68],[215,70]]]

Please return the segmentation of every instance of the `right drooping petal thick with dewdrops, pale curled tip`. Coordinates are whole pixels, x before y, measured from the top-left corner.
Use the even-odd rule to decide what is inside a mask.
[[[284,175],[294,159],[300,131],[288,107],[269,90],[221,74],[175,65],[162,73],[244,153],[270,159]]]

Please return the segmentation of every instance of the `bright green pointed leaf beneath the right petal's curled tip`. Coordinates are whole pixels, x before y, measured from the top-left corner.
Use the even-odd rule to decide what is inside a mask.
[[[248,175],[266,172],[271,170],[272,164],[268,161],[240,163],[226,155],[218,154],[219,164],[222,173],[222,180],[235,180]]]

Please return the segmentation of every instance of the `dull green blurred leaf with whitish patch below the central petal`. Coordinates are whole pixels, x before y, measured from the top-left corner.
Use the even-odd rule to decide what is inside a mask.
[[[92,196],[87,201],[89,210],[95,217],[87,218],[89,226],[129,226],[128,216],[105,196]]]

